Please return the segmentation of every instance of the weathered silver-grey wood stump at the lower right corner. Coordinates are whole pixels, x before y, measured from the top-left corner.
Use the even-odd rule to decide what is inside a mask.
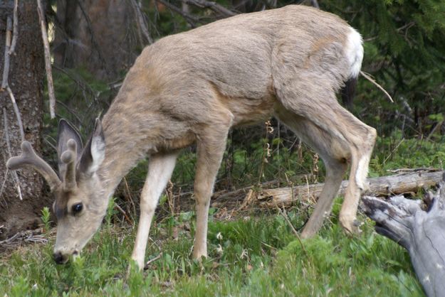
[[[435,195],[410,200],[365,196],[362,209],[376,222],[377,233],[408,250],[427,296],[445,296],[445,182]]]

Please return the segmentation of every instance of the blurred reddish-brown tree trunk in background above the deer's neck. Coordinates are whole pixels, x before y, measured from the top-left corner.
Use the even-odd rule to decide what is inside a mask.
[[[113,80],[137,57],[137,21],[131,1],[58,0],[54,63],[85,67],[95,77]]]

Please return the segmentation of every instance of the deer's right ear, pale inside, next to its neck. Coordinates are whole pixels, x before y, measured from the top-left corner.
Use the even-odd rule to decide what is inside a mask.
[[[103,135],[100,119],[96,119],[93,135],[88,144],[83,149],[82,156],[78,163],[78,173],[82,175],[92,175],[105,158],[105,136]]]

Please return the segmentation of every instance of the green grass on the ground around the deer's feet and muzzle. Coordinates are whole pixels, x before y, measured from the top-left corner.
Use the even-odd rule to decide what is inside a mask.
[[[288,217],[295,228],[305,219],[297,210]],[[190,257],[194,218],[168,217],[154,224],[147,248],[147,259],[159,259],[130,274],[135,232],[106,220],[74,263],[55,264],[51,241],[4,255],[0,296],[423,296],[407,252],[362,220],[360,236],[347,237],[333,215],[300,242],[282,215],[210,217],[209,258],[199,263]]]

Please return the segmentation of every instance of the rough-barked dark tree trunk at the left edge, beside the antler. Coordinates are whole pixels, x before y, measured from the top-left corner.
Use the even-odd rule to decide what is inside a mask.
[[[13,18],[13,6],[14,0],[0,2],[1,72],[5,65],[6,18]],[[11,55],[8,81],[21,112],[25,139],[40,151],[45,65],[36,1],[19,1],[18,11],[19,35],[15,55]],[[23,200],[19,199],[12,173],[6,176],[6,161],[10,156],[6,136],[9,136],[13,156],[19,154],[21,144],[18,121],[6,90],[0,91],[0,116],[0,191],[4,184],[0,194],[0,226],[3,226],[0,228],[0,238],[4,238],[19,229],[37,227],[42,207],[50,205],[51,201],[43,195],[43,180],[36,171],[22,170],[17,173]]]

